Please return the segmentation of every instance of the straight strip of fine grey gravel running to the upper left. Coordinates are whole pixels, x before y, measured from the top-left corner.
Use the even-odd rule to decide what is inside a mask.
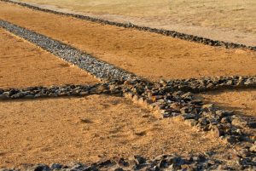
[[[90,54],[85,54],[77,48],[73,48],[66,43],[46,37],[35,31],[29,31],[26,28],[16,26],[8,21],[0,20],[0,27],[12,32],[16,36],[22,37],[27,41],[47,50],[51,54],[55,54],[62,60],[79,66],[81,69],[90,72],[92,75],[102,80],[111,79],[131,79],[135,78],[134,74],[124,71],[116,66],[110,65],[102,60],[97,60]]]

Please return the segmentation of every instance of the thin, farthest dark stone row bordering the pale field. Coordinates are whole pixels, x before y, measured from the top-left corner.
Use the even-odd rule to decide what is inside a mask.
[[[58,12],[58,11],[54,11],[54,10],[50,10],[50,9],[39,8],[39,7],[33,6],[31,4],[27,4],[27,3],[14,2],[14,1],[11,1],[11,0],[0,0],[0,1],[6,2],[6,3],[15,3],[15,4],[18,4],[20,6],[29,8],[29,9],[35,9],[35,10],[44,11],[44,12],[47,12],[47,13],[72,16],[72,17],[80,19],[80,20],[89,20],[89,21],[96,22],[96,23],[101,23],[101,24],[104,24],[104,25],[119,26],[119,27],[125,27],[125,28],[133,28],[133,29],[136,29],[136,30],[139,30],[139,31],[154,32],[154,33],[158,33],[158,34],[165,35],[165,36],[168,36],[168,37],[179,38],[179,39],[183,39],[183,40],[187,40],[187,41],[195,42],[195,43],[202,43],[202,44],[206,44],[206,45],[209,45],[209,46],[223,47],[223,48],[246,48],[246,49],[250,49],[250,50],[253,50],[253,51],[256,50],[255,46],[247,46],[247,45],[239,44],[239,43],[228,43],[228,42],[224,42],[224,41],[212,40],[212,39],[209,39],[209,38],[197,37],[197,36],[193,36],[193,35],[189,35],[189,34],[185,34],[185,33],[180,33],[180,32],[177,32],[177,31],[168,31],[168,30],[164,30],[164,29],[156,29],[156,28],[150,28],[150,27],[144,27],[144,26],[136,26],[136,25],[133,25],[131,23],[125,24],[125,23],[119,23],[119,22],[114,22],[114,21],[109,21],[109,20],[102,20],[102,19],[93,18],[93,17],[90,17],[90,16],[81,15],[81,14],[62,13],[62,12]]]

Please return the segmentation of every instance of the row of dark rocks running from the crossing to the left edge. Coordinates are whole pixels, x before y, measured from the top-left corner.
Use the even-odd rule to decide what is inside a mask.
[[[35,99],[49,97],[85,96],[92,94],[121,95],[119,85],[97,83],[94,85],[62,85],[50,87],[0,89],[0,100]]]

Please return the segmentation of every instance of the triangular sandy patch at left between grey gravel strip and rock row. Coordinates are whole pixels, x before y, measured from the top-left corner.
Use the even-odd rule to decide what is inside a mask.
[[[52,54],[0,29],[0,88],[26,88],[98,81]]]

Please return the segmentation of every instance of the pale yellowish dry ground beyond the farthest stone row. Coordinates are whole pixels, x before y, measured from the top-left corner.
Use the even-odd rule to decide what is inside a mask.
[[[256,45],[254,0],[17,0],[106,20]]]

